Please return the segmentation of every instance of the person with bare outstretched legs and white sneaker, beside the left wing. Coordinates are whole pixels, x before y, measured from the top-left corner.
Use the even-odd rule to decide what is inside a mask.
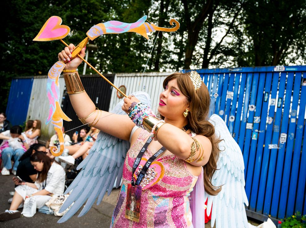
[[[69,155],[69,156],[59,156],[59,160],[61,162],[67,163],[70,166],[73,166],[76,158],[82,156],[82,159],[85,159],[85,157],[87,157],[87,155],[89,153],[90,148],[92,147],[92,145],[96,141],[99,132],[100,132],[100,130],[98,130],[97,128],[91,127],[90,131],[89,131],[89,135],[87,136],[87,138],[90,137],[93,141],[92,142],[91,141],[84,142],[81,145],[81,147],[74,154]]]

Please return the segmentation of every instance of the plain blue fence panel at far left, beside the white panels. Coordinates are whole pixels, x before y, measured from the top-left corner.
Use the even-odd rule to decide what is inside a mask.
[[[23,125],[26,121],[31,97],[33,78],[17,78],[11,83],[6,115],[12,125]]]

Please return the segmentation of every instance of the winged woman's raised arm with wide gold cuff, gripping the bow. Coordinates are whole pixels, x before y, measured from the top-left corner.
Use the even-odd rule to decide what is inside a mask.
[[[80,121],[85,124],[96,127],[97,129],[106,132],[110,135],[116,136],[123,140],[129,140],[130,133],[135,124],[129,119],[127,115],[111,114],[106,111],[96,110],[94,102],[91,101],[88,94],[85,92],[81,84],[80,77],[76,71],[81,64],[81,58],[70,59],[71,52],[75,48],[73,44],[59,53],[59,61],[68,61],[63,69],[64,79],[66,83],[67,92],[74,111],[76,112]],[[81,50],[80,55],[85,56],[85,48]]]

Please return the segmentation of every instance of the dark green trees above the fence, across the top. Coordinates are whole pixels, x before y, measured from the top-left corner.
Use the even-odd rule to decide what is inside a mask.
[[[157,26],[171,27],[169,20],[175,18],[181,25],[177,32],[155,32],[149,40],[132,32],[98,37],[90,42],[98,49],[90,51],[88,61],[102,73],[142,72],[148,58],[146,71],[177,71],[304,64],[305,6],[303,0],[4,1],[2,111],[11,79],[46,75],[64,48],[60,41],[32,41],[52,15],[71,28],[64,39],[68,44],[78,44],[90,27],[109,20],[132,23],[148,15]]]

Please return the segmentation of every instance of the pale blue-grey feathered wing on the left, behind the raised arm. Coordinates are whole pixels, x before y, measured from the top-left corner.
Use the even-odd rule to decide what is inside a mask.
[[[136,92],[133,94],[142,103],[151,107],[149,94],[146,92]],[[121,108],[122,105],[123,100],[115,106],[111,113],[126,115]],[[103,119],[100,121],[103,121]],[[71,218],[86,200],[87,202],[78,217],[87,213],[97,198],[97,205],[100,204],[106,191],[108,195],[111,193],[116,178],[116,187],[119,187],[123,163],[129,147],[129,141],[118,139],[100,131],[97,140],[90,149],[89,155],[77,167],[78,170],[82,170],[64,193],[67,194],[72,190],[59,213],[66,210],[73,202],[74,204],[59,219],[58,223],[66,222]]]

